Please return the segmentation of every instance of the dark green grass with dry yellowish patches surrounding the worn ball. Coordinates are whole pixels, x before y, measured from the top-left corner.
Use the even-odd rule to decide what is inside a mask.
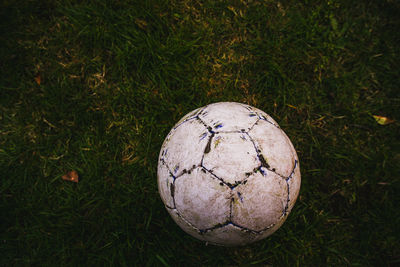
[[[400,264],[398,1],[5,0],[0,20],[0,266]],[[246,247],[185,234],[157,191],[171,127],[218,101],[269,113],[301,164],[288,220]]]

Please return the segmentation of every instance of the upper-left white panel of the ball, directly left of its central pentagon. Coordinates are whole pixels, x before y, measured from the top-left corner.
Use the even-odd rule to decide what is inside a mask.
[[[184,122],[164,141],[160,158],[174,176],[182,174],[201,162],[210,133],[198,120]]]

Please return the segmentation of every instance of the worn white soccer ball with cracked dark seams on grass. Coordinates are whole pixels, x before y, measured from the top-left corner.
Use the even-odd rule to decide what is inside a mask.
[[[184,116],[158,161],[158,190],[174,221],[211,244],[246,245],[274,233],[300,189],[289,138],[265,112],[220,102]]]

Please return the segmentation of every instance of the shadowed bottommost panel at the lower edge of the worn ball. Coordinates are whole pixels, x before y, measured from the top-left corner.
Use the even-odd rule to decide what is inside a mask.
[[[204,233],[203,237],[216,245],[243,246],[253,242],[257,234],[246,231],[230,223]]]

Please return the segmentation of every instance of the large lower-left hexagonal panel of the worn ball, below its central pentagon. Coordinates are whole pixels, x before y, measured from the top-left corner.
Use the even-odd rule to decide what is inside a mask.
[[[202,168],[175,180],[175,205],[187,221],[199,229],[229,219],[230,189]]]

